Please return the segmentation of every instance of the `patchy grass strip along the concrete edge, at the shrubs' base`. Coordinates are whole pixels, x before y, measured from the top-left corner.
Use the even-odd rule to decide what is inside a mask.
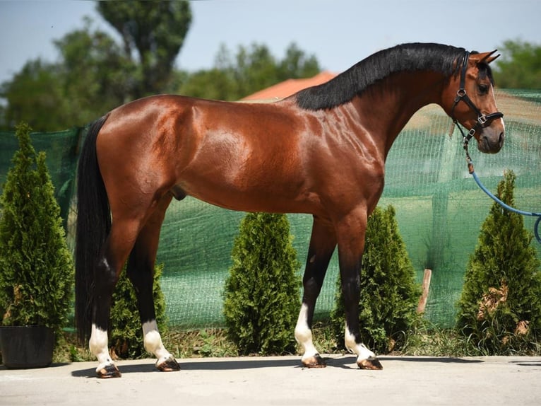
[[[313,328],[314,344],[322,354],[345,354],[342,343],[337,342],[331,327],[323,322],[316,323]],[[489,354],[479,345],[459,335],[455,330],[441,329],[421,321],[412,331],[404,335],[403,346],[390,354],[401,356],[484,356],[484,355],[516,355],[540,356],[541,343],[518,344],[515,348],[507,348],[499,354]],[[237,347],[227,338],[224,329],[212,328],[192,331],[176,331],[162,335],[165,347],[177,359],[237,356]],[[141,344],[143,345],[143,344]],[[297,347],[297,354],[301,354]],[[256,355],[256,354],[254,354]],[[152,357],[145,354],[146,357]],[[78,344],[73,333],[66,332],[55,349],[54,363],[95,361],[85,346]]]

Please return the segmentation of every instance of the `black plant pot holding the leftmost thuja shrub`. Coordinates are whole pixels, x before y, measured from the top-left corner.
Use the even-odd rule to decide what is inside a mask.
[[[9,369],[43,368],[52,363],[54,330],[42,325],[0,327],[2,362]]]

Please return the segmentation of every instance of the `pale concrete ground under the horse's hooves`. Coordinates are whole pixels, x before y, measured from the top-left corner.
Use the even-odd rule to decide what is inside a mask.
[[[121,378],[94,378],[95,362],[13,370],[0,366],[0,405],[541,405],[541,357],[381,356],[383,371],[355,357],[299,356],[120,361]]]

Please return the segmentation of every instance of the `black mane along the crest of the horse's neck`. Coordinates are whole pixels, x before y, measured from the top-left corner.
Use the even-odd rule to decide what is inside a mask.
[[[450,45],[412,43],[382,50],[353,65],[347,71],[319,86],[299,91],[294,98],[300,108],[335,108],[361,95],[372,84],[401,71],[437,71],[451,76],[465,49]]]

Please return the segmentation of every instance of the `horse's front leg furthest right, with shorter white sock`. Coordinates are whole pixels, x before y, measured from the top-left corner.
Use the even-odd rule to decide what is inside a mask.
[[[349,219],[345,219],[337,231],[345,308],[345,347],[357,355],[357,366],[360,369],[383,369],[376,354],[362,343],[359,327],[359,271],[362,266],[366,227],[366,211],[359,211]]]

